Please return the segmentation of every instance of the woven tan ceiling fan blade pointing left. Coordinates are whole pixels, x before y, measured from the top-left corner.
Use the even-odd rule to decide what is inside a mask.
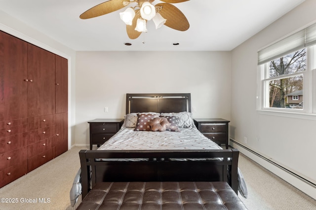
[[[105,1],[83,12],[79,17],[81,19],[89,19],[117,11],[118,9],[121,9],[126,6],[126,4],[123,4],[123,1],[126,0]]]

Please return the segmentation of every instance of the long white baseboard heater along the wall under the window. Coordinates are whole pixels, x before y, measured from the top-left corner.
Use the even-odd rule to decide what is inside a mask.
[[[258,154],[254,150],[247,148],[242,143],[234,139],[230,139],[230,145],[233,148],[238,149],[242,154],[246,155],[262,167],[266,168],[270,172],[274,173],[276,176],[281,178],[282,180],[287,181],[291,185],[295,186],[305,194],[311,196],[312,198],[316,199],[316,184],[306,180],[299,175],[295,174],[294,172],[285,169],[284,167],[278,165],[277,163],[265,158],[264,156]],[[246,180],[247,182],[247,180]]]

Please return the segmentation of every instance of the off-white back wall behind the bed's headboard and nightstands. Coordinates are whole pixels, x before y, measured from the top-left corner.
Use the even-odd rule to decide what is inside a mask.
[[[76,144],[89,143],[87,121],[123,118],[126,93],[191,93],[194,117],[230,120],[230,62],[230,52],[77,52]]]

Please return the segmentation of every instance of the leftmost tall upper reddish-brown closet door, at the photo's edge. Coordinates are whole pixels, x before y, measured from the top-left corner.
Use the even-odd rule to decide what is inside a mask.
[[[28,117],[27,43],[0,31],[0,121]]]

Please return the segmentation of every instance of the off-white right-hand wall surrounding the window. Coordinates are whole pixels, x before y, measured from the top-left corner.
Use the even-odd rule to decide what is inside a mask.
[[[231,137],[237,142],[296,171],[314,183],[316,183],[316,167],[313,161],[316,148],[316,117],[295,119],[260,114],[256,111],[256,90],[257,51],[295,30],[315,23],[315,8],[315,0],[306,0],[232,51],[230,123]],[[247,143],[244,143],[244,137],[247,138]],[[273,170],[269,167],[268,169]],[[286,180],[285,175],[281,177]],[[304,189],[304,183],[297,180],[288,181],[306,192],[313,191],[314,198],[316,197],[315,188],[306,186],[309,189]]]

